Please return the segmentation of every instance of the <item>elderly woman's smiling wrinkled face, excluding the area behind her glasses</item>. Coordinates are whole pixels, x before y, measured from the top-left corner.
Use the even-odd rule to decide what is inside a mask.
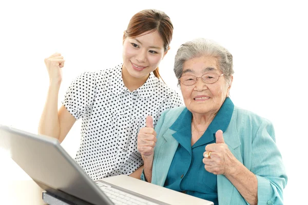
[[[218,112],[231,87],[223,76],[214,84],[206,84],[201,76],[205,73],[221,75],[218,68],[218,59],[213,56],[202,56],[185,61],[183,65],[184,75],[194,75],[197,81],[194,85],[186,86],[181,83],[181,91],[187,109],[192,113],[214,114]],[[232,80],[231,80],[232,83]]]

